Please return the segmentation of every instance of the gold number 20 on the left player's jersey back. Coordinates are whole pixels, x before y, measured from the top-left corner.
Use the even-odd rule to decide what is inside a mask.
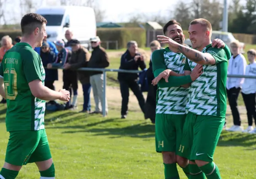
[[[4,81],[6,99],[14,100],[17,96],[17,73],[14,68],[6,68],[4,74],[8,78]]]

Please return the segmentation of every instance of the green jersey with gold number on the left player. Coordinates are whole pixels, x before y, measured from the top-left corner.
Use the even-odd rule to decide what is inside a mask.
[[[44,129],[45,101],[35,98],[28,83],[40,80],[45,72],[40,55],[27,43],[17,43],[4,55],[0,64],[7,100],[7,131]]]

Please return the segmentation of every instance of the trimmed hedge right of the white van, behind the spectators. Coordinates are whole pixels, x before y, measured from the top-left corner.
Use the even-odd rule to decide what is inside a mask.
[[[118,48],[126,48],[128,41],[135,40],[138,47],[146,45],[146,30],[142,28],[98,28],[97,36],[103,41],[118,41]],[[105,47],[106,48],[106,47]],[[115,43],[109,43],[109,49],[115,49]]]

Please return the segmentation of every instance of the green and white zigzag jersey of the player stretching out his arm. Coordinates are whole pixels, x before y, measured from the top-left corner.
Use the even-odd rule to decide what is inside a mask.
[[[214,65],[203,65],[203,74],[190,85],[186,113],[189,111],[197,115],[213,115],[225,117],[226,115],[226,80],[228,59],[221,48],[208,45],[202,50],[211,54],[215,60]],[[185,70],[193,70],[197,64],[186,60]]]

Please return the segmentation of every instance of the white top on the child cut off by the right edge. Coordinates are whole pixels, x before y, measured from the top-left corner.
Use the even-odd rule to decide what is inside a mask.
[[[247,65],[245,75],[256,76],[256,62]],[[256,93],[256,79],[245,78],[242,87],[243,94]]]

